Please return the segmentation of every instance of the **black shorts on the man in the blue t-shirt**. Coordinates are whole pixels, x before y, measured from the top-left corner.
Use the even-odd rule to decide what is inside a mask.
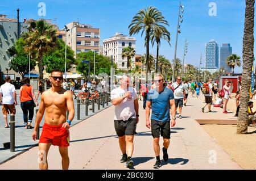
[[[159,138],[159,133],[163,138],[170,139],[171,137],[170,121],[151,120],[152,137]]]

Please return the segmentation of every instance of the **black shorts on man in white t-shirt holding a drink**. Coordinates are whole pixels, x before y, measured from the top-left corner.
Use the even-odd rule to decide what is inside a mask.
[[[134,135],[136,131],[136,118],[129,119],[127,121],[123,120],[114,120],[115,132],[117,132],[117,136],[125,136],[125,135]]]

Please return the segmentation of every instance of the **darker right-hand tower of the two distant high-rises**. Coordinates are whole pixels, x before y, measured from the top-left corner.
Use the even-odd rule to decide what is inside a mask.
[[[230,47],[230,44],[222,44],[222,47],[220,48],[220,68],[225,68],[229,73],[232,69],[226,64],[226,58],[228,58],[230,54],[232,54],[232,47]]]

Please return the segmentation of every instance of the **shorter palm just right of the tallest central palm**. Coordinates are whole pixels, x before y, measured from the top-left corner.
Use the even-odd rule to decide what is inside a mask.
[[[156,42],[156,68],[155,68],[156,73],[158,72],[158,54],[159,54],[159,47],[161,45],[161,39],[167,40],[167,42],[171,46],[170,32],[165,27],[159,27],[159,28],[156,28],[154,31],[150,32],[150,40],[152,42],[152,47]]]

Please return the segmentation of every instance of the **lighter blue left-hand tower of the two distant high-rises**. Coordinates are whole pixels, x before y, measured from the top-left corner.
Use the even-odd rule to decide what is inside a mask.
[[[210,40],[205,46],[205,68],[218,69],[218,44]]]

